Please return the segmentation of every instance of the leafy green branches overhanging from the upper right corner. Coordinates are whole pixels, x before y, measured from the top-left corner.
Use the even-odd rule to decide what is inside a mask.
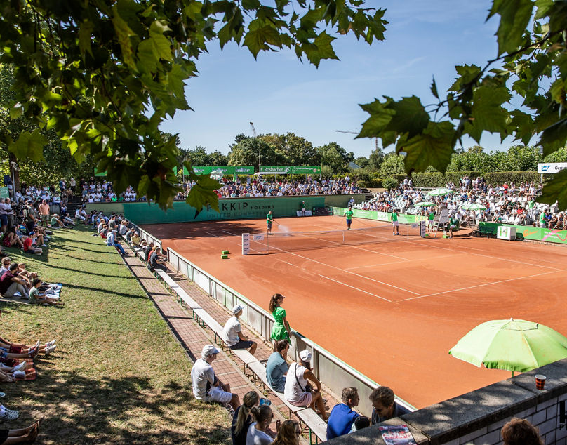
[[[455,67],[457,77],[446,95],[439,94],[434,79],[433,105],[415,96],[385,96],[361,105],[370,117],[358,137],[395,145],[407,173],[429,166],[446,171],[458,142],[466,135],[479,143],[485,131],[523,145],[537,138],[546,157],[564,147],[567,1],[493,0],[488,18],[495,15],[500,17],[497,58],[483,67]],[[567,170],[547,182],[540,197],[547,203],[556,199],[567,208]]]

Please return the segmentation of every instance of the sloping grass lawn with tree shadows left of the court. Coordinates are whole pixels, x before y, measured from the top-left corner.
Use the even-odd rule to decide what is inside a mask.
[[[41,256],[6,249],[44,281],[62,283],[65,307],[0,299],[1,336],[58,345],[36,357],[36,380],[1,385],[0,402],[20,418],[0,428],[46,416],[38,443],[229,444],[227,411],[194,400],[189,357],[115,249],[92,233],[55,232]]]

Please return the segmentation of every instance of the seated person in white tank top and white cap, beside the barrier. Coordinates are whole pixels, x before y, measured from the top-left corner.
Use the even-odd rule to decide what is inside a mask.
[[[312,354],[309,350],[303,350],[299,353],[299,357],[299,362],[292,363],[288,369],[284,396],[289,403],[295,406],[309,406],[311,409],[315,409],[316,405],[321,418],[327,420],[325,402],[321,395],[321,382],[319,382],[309,367]],[[313,390],[307,380],[311,380],[314,383],[316,390]]]

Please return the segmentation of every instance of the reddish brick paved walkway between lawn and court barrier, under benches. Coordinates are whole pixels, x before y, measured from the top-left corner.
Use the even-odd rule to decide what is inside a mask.
[[[156,279],[152,272],[149,272],[147,267],[142,264],[140,258],[136,256],[133,251],[126,248],[128,256],[124,258],[124,262],[140,281],[140,284],[145,289],[147,294],[154,300],[154,303],[161,312],[166,322],[171,328],[173,334],[178,338],[180,343],[185,347],[189,357],[195,361],[201,357],[201,350],[204,345],[214,342],[214,333],[208,328],[202,328],[192,318],[192,313],[185,310],[178,302],[175,296],[171,295],[164,285]],[[218,302],[210,298],[198,286],[189,281],[186,277],[176,272],[169,272],[170,276],[178,282],[179,286],[183,288],[187,294],[193,298],[201,307],[203,307],[208,314],[211,315],[221,325],[225,324],[230,317],[229,312],[222,307]],[[255,357],[260,361],[267,361],[270,354],[272,354],[272,345],[263,342],[261,338],[254,332],[248,329],[244,324],[242,326],[244,335],[248,336],[251,340],[258,343],[258,349],[255,352]],[[240,367],[237,357],[228,355],[227,352],[221,351],[218,358],[213,363],[215,374],[222,380],[223,383],[229,383],[232,392],[239,394],[242,401],[244,394],[251,390],[262,392],[262,387],[255,387],[251,382],[251,376],[246,375]],[[248,371],[250,374],[250,371]],[[331,397],[328,391],[323,388],[324,397],[328,399],[327,406],[332,407],[338,401]],[[276,418],[284,420],[288,418],[288,409],[286,405],[276,397],[272,392],[264,392],[264,396],[272,401],[272,406],[276,407],[278,411],[274,410]],[[329,411],[327,411],[329,412]],[[275,430],[275,425],[272,425],[272,430]]]

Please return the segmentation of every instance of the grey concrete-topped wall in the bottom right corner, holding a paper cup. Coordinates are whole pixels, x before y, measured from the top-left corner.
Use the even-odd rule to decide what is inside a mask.
[[[535,374],[547,377],[535,389]],[[567,399],[567,359],[502,380],[439,404],[390,419],[384,425],[408,425],[418,444],[502,444],[500,429],[513,417],[536,425],[545,444],[567,444],[560,428],[559,402]],[[381,424],[382,425],[382,424]],[[378,425],[328,442],[329,445],[384,444]]]

